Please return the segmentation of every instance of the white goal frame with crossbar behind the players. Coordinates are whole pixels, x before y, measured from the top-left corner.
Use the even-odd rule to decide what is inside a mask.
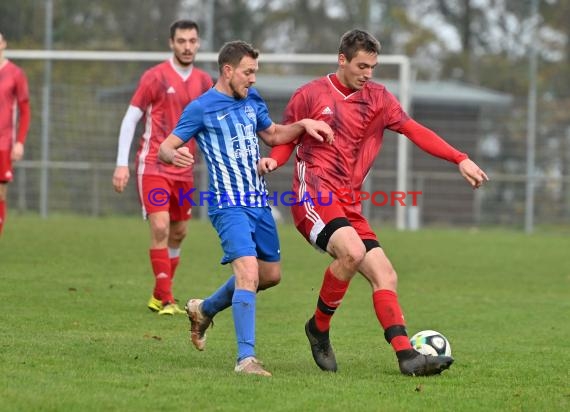
[[[168,59],[172,53],[170,52],[123,52],[123,51],[78,51],[78,50],[6,50],[6,57],[12,59],[23,60],[84,60],[84,61],[162,61]],[[281,53],[262,53],[259,56],[260,62],[263,63],[284,63],[284,64],[323,64],[331,63],[336,64],[338,56],[336,54],[281,54]],[[205,63],[216,63],[218,61],[218,54],[211,52],[200,52],[199,61]],[[398,98],[402,108],[409,112],[411,107],[411,93],[410,93],[410,80],[411,68],[410,59],[404,55],[379,55],[379,64],[396,65],[398,66],[398,82],[399,90],[397,92]],[[46,76],[49,78],[49,76]],[[48,86],[48,85],[44,85]],[[49,87],[44,87],[49,90]],[[44,103],[49,103],[49,93],[45,97]],[[42,147],[49,146],[48,142],[44,139],[49,139],[47,124],[49,119],[45,119],[42,124]],[[47,156],[42,157],[46,159],[43,165],[47,169]],[[408,189],[408,159],[409,159],[409,142],[405,136],[398,136],[398,150],[397,150],[397,178],[396,190],[400,192],[407,192]],[[47,196],[47,188],[41,191],[43,196]],[[364,190],[370,192],[370,180],[367,179],[364,183]],[[43,199],[43,203],[47,203],[47,199]],[[364,212],[367,213],[369,205],[365,203]],[[398,230],[405,230],[409,227],[407,218],[407,206],[396,207],[396,228]]]

